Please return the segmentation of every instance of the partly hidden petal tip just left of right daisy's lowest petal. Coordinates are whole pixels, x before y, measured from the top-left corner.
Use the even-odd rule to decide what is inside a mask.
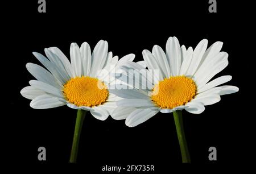
[[[111,117],[116,120],[126,119],[136,108],[119,106],[113,110]]]

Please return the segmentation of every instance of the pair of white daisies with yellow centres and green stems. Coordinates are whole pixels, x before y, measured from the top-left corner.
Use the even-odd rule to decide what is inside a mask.
[[[30,86],[20,93],[32,100],[30,106],[34,109],[63,105],[78,109],[79,122],[82,110],[90,111],[93,117],[100,120],[109,115],[114,119],[126,119],[129,127],[147,121],[159,111],[174,112],[177,133],[180,131],[183,134],[178,129],[182,124],[181,115],[177,114],[179,110],[200,114],[204,106],[220,101],[221,95],[238,91],[236,86],[219,86],[230,81],[231,76],[210,81],[228,65],[228,53],[220,52],[222,42],[216,42],[208,49],[207,44],[204,39],[194,50],[192,47],[186,49],[184,45],[180,47],[177,38],[170,37],[166,52],[155,45],[152,52],[145,49],[142,52],[144,61],[137,63],[133,62],[133,54],[119,60],[118,56],[113,57],[104,40],[97,43],[93,52],[86,42],[81,47],[72,43],[71,62],[60,49],[46,48],[47,57],[33,52],[46,69],[28,63],[28,71],[37,80],[29,81]],[[125,78],[113,76],[112,72],[117,71]],[[117,88],[117,85],[122,88]],[[185,139],[179,141],[184,143]],[[76,143],[73,144],[74,151],[77,151],[76,146]],[[185,154],[184,159],[189,158],[186,151],[185,148],[181,150],[181,154]]]

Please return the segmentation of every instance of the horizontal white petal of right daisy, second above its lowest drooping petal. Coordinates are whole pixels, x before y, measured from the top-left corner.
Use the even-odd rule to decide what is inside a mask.
[[[123,99],[117,102],[117,106],[155,107],[155,105],[150,100],[143,99]]]

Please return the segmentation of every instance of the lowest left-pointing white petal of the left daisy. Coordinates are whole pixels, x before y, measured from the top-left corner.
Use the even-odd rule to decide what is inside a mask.
[[[61,102],[56,97],[52,97],[47,94],[38,96],[30,102],[30,107],[34,109],[48,109],[48,108],[59,107],[63,105],[66,105],[66,103]]]

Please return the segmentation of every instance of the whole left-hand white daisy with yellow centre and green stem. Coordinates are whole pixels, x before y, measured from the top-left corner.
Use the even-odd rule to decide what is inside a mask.
[[[85,111],[104,121],[112,114],[119,97],[110,93],[112,82],[109,74],[127,61],[133,61],[134,55],[126,55],[118,61],[118,56],[108,52],[108,42],[100,40],[91,53],[88,43],[81,47],[72,43],[71,62],[59,48],[44,49],[46,56],[33,52],[36,59],[44,65],[27,63],[26,68],[37,80],[29,81],[30,86],[23,88],[23,97],[32,100],[34,109],[48,109],[67,105],[77,109],[77,120],[73,139],[71,160],[76,160],[79,135]]]

